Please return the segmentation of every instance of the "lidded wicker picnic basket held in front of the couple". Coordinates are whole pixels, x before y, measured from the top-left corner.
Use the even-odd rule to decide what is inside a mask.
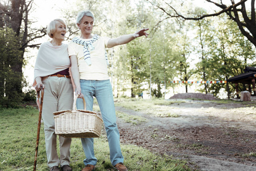
[[[99,113],[86,110],[86,100],[83,97],[84,110],[76,110],[74,99],[73,110],[54,112],[56,135],[68,138],[100,137],[103,120]]]

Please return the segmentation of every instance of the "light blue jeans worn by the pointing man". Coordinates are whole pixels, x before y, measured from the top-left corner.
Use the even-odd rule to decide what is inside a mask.
[[[111,164],[116,165],[119,162],[123,162],[124,157],[120,148],[120,135],[116,125],[116,111],[110,81],[81,79],[80,86],[84,99],[86,100],[86,109],[88,111],[92,111],[94,96],[99,104],[105,130],[107,132]],[[76,101],[76,108],[84,109],[82,99]],[[84,153],[86,154],[84,164],[96,165],[97,158],[94,156],[94,139],[82,138],[81,141]]]

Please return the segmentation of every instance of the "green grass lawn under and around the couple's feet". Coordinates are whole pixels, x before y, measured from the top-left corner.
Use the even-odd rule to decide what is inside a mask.
[[[19,109],[0,108],[0,170],[33,170],[38,113],[31,106]],[[121,144],[121,150],[124,164],[129,170],[190,170],[185,161],[158,156],[139,146]],[[105,131],[100,138],[95,139],[95,156],[98,160],[95,170],[115,170],[109,160]],[[80,139],[72,139],[70,165],[74,171],[84,168],[84,158]],[[43,123],[36,169],[48,170]]]

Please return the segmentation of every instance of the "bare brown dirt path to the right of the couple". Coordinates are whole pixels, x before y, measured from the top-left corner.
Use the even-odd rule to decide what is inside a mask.
[[[116,111],[141,116],[133,125],[117,119],[121,143],[188,160],[198,170],[256,170],[256,103],[211,103],[186,100],[170,109],[180,117],[155,117],[123,107]]]

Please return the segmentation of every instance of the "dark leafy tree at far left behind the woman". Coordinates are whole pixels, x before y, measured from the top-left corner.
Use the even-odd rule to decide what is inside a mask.
[[[33,1],[11,0],[0,2],[0,32],[1,32],[1,76],[0,100],[5,106],[21,103],[22,88],[26,80],[23,79],[22,67],[25,64],[24,53],[26,47],[38,47],[30,44],[37,38],[46,35],[45,28],[30,29],[29,13]]]

